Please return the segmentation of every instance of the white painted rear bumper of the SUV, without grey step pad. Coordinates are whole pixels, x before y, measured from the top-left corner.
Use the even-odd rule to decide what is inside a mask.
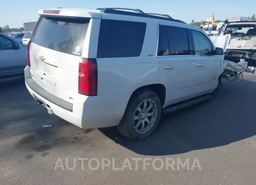
[[[30,67],[27,66],[25,84],[29,93],[42,100],[47,109],[52,110],[60,118],[81,128],[110,127],[120,123],[131,93],[89,96],[72,104],[38,86],[33,82],[29,70]]]

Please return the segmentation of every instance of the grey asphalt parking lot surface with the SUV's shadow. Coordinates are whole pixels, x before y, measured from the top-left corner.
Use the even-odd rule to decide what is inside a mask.
[[[116,127],[83,130],[48,114],[22,78],[0,81],[0,99],[1,184],[256,184],[256,75],[223,80],[209,101],[162,117],[139,142]],[[187,158],[189,168],[178,168]]]

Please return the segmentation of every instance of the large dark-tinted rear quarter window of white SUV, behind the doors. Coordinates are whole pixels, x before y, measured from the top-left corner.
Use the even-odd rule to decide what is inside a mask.
[[[147,24],[102,19],[97,58],[139,57]]]

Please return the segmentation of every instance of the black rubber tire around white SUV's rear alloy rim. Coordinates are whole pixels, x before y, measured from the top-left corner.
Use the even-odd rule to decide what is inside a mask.
[[[137,107],[147,99],[153,100],[156,104],[156,107],[157,107],[157,112],[155,113],[156,119],[155,119],[154,125],[150,128],[149,131],[147,131],[146,133],[140,134],[135,131],[133,117]],[[162,111],[162,105],[161,105],[160,98],[157,96],[157,94],[155,94],[155,92],[150,90],[142,90],[138,94],[136,94],[134,97],[132,97],[132,99],[130,99],[127,105],[126,111],[123,115],[123,118],[120,121],[120,124],[117,125],[117,128],[123,136],[131,140],[145,139],[155,131],[161,117],[161,111]]]

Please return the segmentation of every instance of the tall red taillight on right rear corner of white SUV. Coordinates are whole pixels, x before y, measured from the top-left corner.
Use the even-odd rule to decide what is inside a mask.
[[[78,92],[87,96],[97,95],[96,59],[82,59],[79,63]]]

